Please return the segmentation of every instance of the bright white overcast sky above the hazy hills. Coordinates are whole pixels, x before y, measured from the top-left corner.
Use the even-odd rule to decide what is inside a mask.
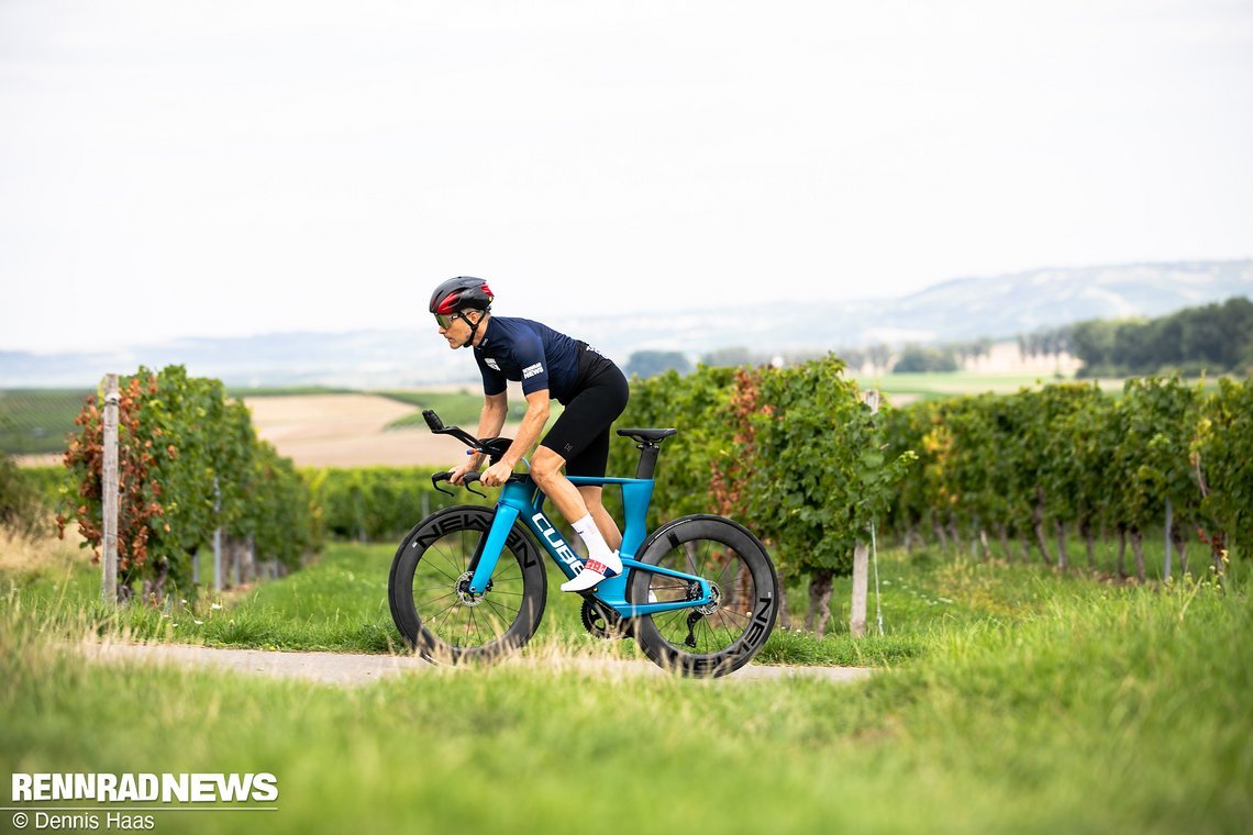
[[[0,0],[0,349],[1247,258],[1250,148],[1247,0]]]

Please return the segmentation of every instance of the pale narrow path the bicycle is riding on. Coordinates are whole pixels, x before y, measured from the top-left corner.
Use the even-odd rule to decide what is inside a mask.
[[[261,650],[219,650],[169,643],[83,643],[83,655],[101,662],[142,662],[174,665],[199,670],[228,670],[272,679],[294,679],[332,685],[367,685],[405,672],[435,667],[413,656],[365,655],[351,652],[264,652]],[[619,661],[579,656],[515,658],[505,663],[543,665],[555,674],[603,671],[609,675],[668,675],[647,661]],[[792,676],[848,682],[871,675],[866,667],[768,667],[749,665],[728,676],[737,681],[778,680]]]

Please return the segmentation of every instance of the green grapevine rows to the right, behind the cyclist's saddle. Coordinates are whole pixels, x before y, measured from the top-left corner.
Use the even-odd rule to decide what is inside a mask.
[[[1184,571],[1189,545],[1220,572],[1233,545],[1253,540],[1248,382],[1207,392],[1136,378],[1119,397],[1058,383],[876,414],[843,371],[827,358],[635,381],[620,423],[682,431],[663,457],[653,521],[712,497],[773,543],[787,575],[819,587],[848,572],[872,525],[906,546],[928,540],[1063,570],[1073,535],[1089,567],[1096,541],[1114,537],[1118,571],[1129,545],[1140,580],[1150,531],[1169,537]],[[610,467],[630,458],[619,447]]]

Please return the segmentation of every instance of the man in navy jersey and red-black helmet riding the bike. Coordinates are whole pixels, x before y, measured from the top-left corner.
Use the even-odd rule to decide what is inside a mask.
[[[583,571],[563,583],[561,591],[588,591],[621,573],[621,532],[601,505],[601,488],[575,487],[561,468],[569,476],[605,474],[609,427],[626,408],[626,378],[613,361],[585,342],[540,322],[492,315],[494,298],[481,278],[459,275],[435,288],[430,304],[449,348],[474,348],[484,393],[477,437],[496,437],[505,426],[505,381],[520,382],[526,396],[526,416],[517,437],[501,461],[482,473],[482,483],[505,483],[544,431],[549,401],[565,406],[531,457],[531,477],[588,546]],[[462,483],[467,472],[482,464],[482,453],[467,454],[470,458],[451,471],[454,484]]]

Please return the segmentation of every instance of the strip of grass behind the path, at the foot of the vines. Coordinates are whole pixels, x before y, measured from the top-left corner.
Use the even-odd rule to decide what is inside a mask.
[[[85,552],[66,546],[0,540],[0,552],[26,556],[0,558],[0,593],[55,628],[73,628],[84,612],[101,633],[127,632],[142,640],[203,643],[257,650],[400,652],[400,635],[387,605],[387,575],[395,546],[390,543],[332,542],[313,563],[281,581],[257,583],[216,596],[212,588],[174,592],[164,608],[132,606],[120,612],[101,606],[99,568]],[[1164,543],[1145,542],[1149,581],[1159,583]],[[1080,555],[1071,545],[1071,557]],[[1190,548],[1193,581],[1209,576],[1208,553]],[[923,656],[936,630],[974,627],[987,621],[1022,617],[1039,611],[1053,593],[1081,596],[1119,585],[1114,575],[1113,543],[1096,552],[1098,571],[1075,567],[1058,573],[1036,557],[1032,563],[982,562],[962,553],[920,548],[912,553],[888,550],[880,555],[880,597],[868,603],[871,633],[855,638],[848,630],[852,580],[836,578],[827,635],[818,640],[801,628],[806,587],[788,588],[792,630],[781,621],[757,657],[768,665],[895,666]],[[1086,560],[1086,557],[1084,557]],[[1128,551],[1128,567],[1130,551]],[[583,651],[596,642],[583,627],[580,601],[564,595],[564,581],[549,565],[549,593],[544,622],[528,651],[553,647]],[[1178,578],[1178,557],[1175,575]],[[875,627],[883,612],[883,633]],[[633,641],[615,641],[611,653],[643,658]]]

